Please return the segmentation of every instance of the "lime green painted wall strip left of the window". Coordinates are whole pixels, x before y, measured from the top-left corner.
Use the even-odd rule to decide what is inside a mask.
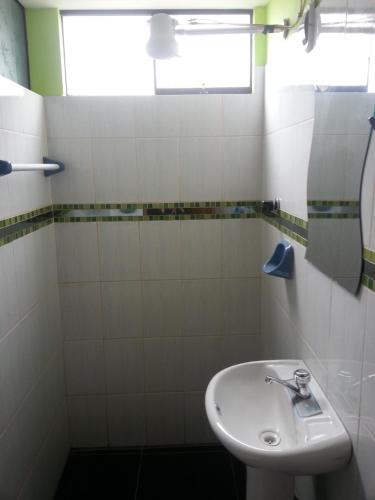
[[[25,13],[31,90],[40,95],[63,95],[59,10],[26,9]]]

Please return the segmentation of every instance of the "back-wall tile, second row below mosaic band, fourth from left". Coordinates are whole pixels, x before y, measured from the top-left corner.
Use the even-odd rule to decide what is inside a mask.
[[[184,335],[219,335],[222,333],[221,280],[184,280],[182,290]]]

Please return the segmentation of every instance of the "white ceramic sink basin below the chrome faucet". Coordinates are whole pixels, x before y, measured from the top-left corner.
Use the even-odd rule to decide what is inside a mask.
[[[291,475],[324,474],[344,467],[351,441],[318,383],[309,388],[320,412],[301,417],[292,393],[267,375],[292,379],[299,360],[257,361],[217,373],[206,391],[206,412],[221,443],[255,468]],[[298,399],[298,398],[297,398]],[[299,405],[306,404],[299,400]]]

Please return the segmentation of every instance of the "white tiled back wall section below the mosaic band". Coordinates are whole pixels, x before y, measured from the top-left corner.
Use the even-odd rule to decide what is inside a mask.
[[[259,266],[249,266],[246,255],[260,262],[260,224],[256,219],[107,222],[97,224],[98,240],[93,223],[56,225],[60,241],[66,237],[61,247],[76,239],[90,252],[71,266],[71,257],[65,258],[59,268],[67,392],[82,411],[88,410],[81,397],[105,405],[110,445],[212,439],[203,399],[197,398],[220,368],[259,357]],[[140,279],[134,274],[134,248],[139,248]],[[97,253],[101,279],[83,272]],[[195,395],[193,408],[184,403],[186,394]],[[129,409],[130,396],[137,409]],[[180,413],[169,404],[151,411],[153,397],[177,400]],[[74,442],[97,446],[103,439],[102,410],[80,441],[83,417],[71,402],[69,408]],[[138,412],[144,424],[137,423]],[[176,425],[164,429],[163,419],[172,417],[178,417]],[[128,426],[134,435],[128,435]]]

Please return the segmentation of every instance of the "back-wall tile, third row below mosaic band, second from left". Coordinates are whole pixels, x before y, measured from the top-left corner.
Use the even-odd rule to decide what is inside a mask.
[[[144,389],[142,341],[105,340],[104,349],[107,393],[142,393]]]

